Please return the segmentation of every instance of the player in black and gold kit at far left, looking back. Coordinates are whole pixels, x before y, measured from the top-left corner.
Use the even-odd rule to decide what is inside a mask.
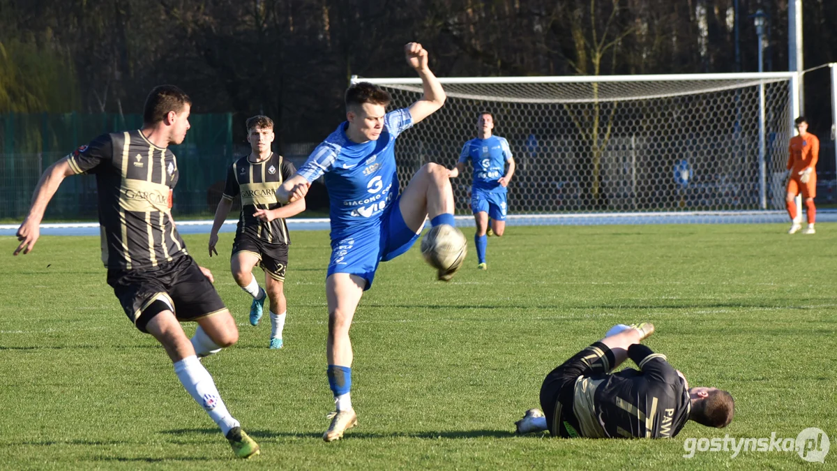
[[[239,331],[212,285],[212,273],[188,255],[170,212],[178,172],[168,146],[186,137],[191,106],[176,86],[158,86],[146,99],[142,129],[96,137],[47,168],[18,229],[21,243],[14,255],[35,246],[44,210],[64,178],[94,174],[107,283],[136,329],[166,349],[177,378],[218,424],[236,456],[249,458],[259,445],[229,414],[198,361],[234,344]],[[191,341],[181,321],[198,323]]]

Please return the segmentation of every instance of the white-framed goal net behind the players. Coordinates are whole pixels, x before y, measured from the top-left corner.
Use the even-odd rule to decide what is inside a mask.
[[[490,111],[516,162],[511,218],[775,218],[784,208],[794,77],[442,79],[445,106],[398,138],[398,177],[405,185],[429,162],[452,168],[476,137],[479,113]],[[389,91],[393,109],[422,96],[419,79],[352,81]],[[469,168],[452,180],[459,215],[471,214],[470,179]]]

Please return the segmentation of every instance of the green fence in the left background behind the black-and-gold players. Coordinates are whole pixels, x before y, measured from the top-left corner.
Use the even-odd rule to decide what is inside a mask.
[[[177,215],[211,215],[223,192],[226,168],[249,148],[233,145],[232,115],[189,116],[186,140],[172,146],[180,180],[174,192]],[[0,114],[0,219],[22,219],[41,173],[59,158],[105,132],[137,129],[141,115]],[[44,220],[95,220],[95,177],[64,180]]]

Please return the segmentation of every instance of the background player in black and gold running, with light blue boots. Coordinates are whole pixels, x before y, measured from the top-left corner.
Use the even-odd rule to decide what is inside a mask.
[[[215,221],[209,234],[209,256],[218,255],[218,230],[229,215],[233,199],[241,196],[241,214],[235,230],[233,255],[229,266],[235,282],[253,297],[250,304],[250,323],[258,325],[264,311],[264,299],[270,297],[270,349],[281,349],[284,344],[287,303],[285,302],[285,271],[288,267],[290,236],[285,218],[306,210],[306,200],[290,204],[276,201],[276,189],[296,173],[294,165],[271,152],[274,140],[273,120],[267,116],[253,116],[247,120],[248,156],[239,158],[227,171],[223,197],[215,210]],[[264,270],[264,287],[253,276],[253,267]]]

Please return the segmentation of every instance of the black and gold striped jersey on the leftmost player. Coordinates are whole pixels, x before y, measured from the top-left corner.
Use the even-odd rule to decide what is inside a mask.
[[[140,130],[96,137],[67,157],[75,173],[96,177],[105,267],[157,267],[187,255],[170,208],[177,159]]]

